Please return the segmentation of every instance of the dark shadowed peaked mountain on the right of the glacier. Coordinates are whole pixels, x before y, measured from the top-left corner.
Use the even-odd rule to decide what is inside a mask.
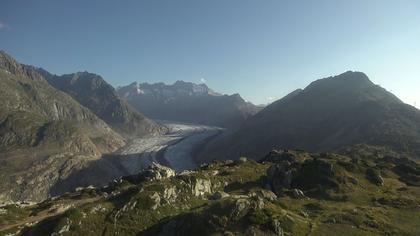
[[[331,151],[370,144],[420,158],[420,111],[360,72],[317,80],[204,149],[202,160],[258,158],[272,148]]]

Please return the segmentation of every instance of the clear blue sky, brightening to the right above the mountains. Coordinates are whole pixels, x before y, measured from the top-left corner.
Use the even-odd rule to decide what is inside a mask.
[[[2,0],[0,49],[55,74],[205,82],[255,104],[362,71],[420,107],[418,0]]]

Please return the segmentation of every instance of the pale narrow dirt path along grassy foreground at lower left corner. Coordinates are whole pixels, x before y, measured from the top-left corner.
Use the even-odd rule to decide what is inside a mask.
[[[71,204],[68,204],[68,205],[65,205],[65,206],[62,206],[62,207],[48,208],[46,210],[43,210],[43,211],[39,212],[35,216],[29,216],[29,217],[24,218],[23,220],[21,220],[17,223],[8,224],[8,225],[0,225],[0,233],[2,233],[4,231],[7,231],[7,230],[10,230],[10,229],[13,229],[13,228],[17,228],[19,226],[26,225],[26,224],[33,224],[33,223],[36,223],[36,222],[40,222],[40,221],[42,221],[46,218],[60,215],[60,214],[64,213],[65,211],[67,211],[68,209],[72,208],[72,207],[78,207],[78,206],[84,205],[86,203],[95,202],[95,201],[99,200],[100,198],[101,197],[76,200],[76,201],[72,201]]]

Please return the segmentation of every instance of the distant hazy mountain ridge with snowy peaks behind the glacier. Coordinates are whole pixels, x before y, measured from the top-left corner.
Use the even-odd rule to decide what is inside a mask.
[[[231,128],[260,109],[244,101],[239,94],[221,95],[205,84],[184,81],[173,85],[132,83],[117,90],[140,112],[160,120]]]

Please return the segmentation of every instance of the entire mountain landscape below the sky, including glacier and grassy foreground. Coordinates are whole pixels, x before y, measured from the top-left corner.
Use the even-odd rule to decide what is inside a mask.
[[[361,72],[261,108],[183,81],[114,89],[0,51],[0,100],[0,235],[420,233],[420,111]],[[167,150],[200,167],[155,163]]]

